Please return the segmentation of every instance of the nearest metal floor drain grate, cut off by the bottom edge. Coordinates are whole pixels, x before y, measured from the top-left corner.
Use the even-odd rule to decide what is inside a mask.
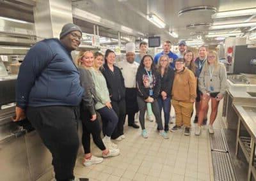
[[[227,152],[212,151],[212,162],[215,181],[236,180],[236,174]]]

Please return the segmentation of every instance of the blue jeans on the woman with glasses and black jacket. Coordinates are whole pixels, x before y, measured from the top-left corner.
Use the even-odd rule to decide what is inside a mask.
[[[157,98],[160,115],[162,113],[162,109],[164,109],[164,131],[169,130],[169,119],[170,119],[170,111],[171,111],[171,98],[168,97],[166,99],[162,99],[162,96]]]

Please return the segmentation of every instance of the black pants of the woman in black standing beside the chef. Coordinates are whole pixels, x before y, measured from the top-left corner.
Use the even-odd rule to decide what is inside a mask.
[[[118,102],[111,101],[111,105],[118,117],[118,123],[116,125],[116,128],[113,134],[111,135],[112,139],[116,139],[122,134],[124,134],[125,99],[122,99],[121,101],[118,101]]]

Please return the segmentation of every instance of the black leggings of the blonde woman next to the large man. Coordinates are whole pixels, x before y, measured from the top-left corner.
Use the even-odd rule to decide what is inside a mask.
[[[89,154],[90,150],[90,143],[91,143],[91,134],[93,138],[93,142],[97,145],[100,150],[106,150],[104,143],[100,138],[100,122],[99,122],[99,113],[97,113],[96,120],[92,119],[92,115],[88,110],[81,111],[81,120],[83,125],[83,134],[82,134],[82,144],[84,148],[84,154]]]

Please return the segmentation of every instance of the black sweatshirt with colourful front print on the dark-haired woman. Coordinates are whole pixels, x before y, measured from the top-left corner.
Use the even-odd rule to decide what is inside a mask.
[[[152,98],[156,99],[159,96],[160,92],[160,75],[157,73],[157,71],[152,70],[152,76],[153,76],[153,96]],[[144,68],[138,68],[137,74],[136,74],[136,87],[138,96],[142,97],[143,99],[147,99],[149,96],[149,90],[150,87],[147,87],[145,84],[145,81],[147,81],[148,74],[147,71]]]

